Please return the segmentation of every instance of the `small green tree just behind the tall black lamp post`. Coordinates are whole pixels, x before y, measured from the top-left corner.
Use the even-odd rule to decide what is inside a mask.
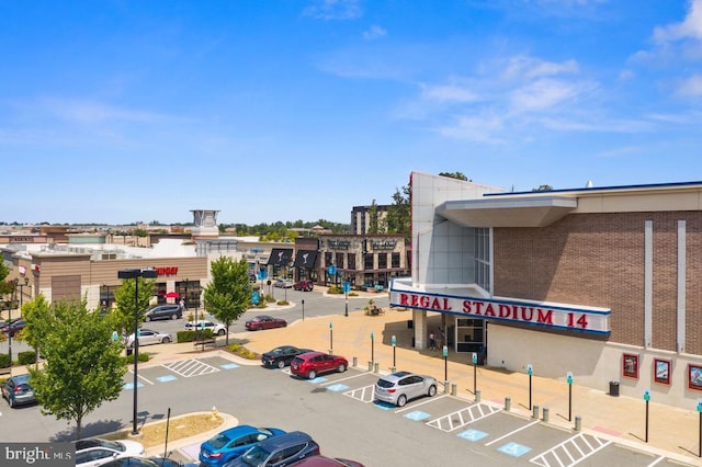
[[[136,278],[139,283],[138,298],[135,297],[135,292],[137,291],[134,289],[136,286],[134,281],[133,278],[125,278],[122,281],[122,285],[114,291],[116,306],[110,312],[110,321],[114,326],[114,330],[120,334],[134,332],[135,306],[136,311],[138,311],[139,326],[144,322],[144,312],[149,308],[149,303],[154,297],[155,282],[152,280]]]

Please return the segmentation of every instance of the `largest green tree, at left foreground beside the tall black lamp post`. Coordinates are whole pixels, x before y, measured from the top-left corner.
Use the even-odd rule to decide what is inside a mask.
[[[38,309],[38,308],[37,308]],[[32,320],[30,329],[41,330],[42,367],[30,367],[32,387],[43,414],[76,422],[76,438],[81,437],[83,418],[102,402],[120,397],[126,364],[122,343],[112,341],[112,324],[99,312],[89,311],[86,300],[57,301]],[[34,341],[38,337],[30,337]]]

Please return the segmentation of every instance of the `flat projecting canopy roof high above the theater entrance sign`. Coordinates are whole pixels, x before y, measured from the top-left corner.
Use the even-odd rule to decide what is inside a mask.
[[[464,227],[545,227],[578,207],[564,196],[448,201],[437,214]]]

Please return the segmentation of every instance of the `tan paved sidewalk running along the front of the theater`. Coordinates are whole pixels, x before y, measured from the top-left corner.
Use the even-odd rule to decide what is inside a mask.
[[[529,376],[484,366],[474,369],[469,364],[471,357],[465,354],[451,352],[444,362],[441,352],[418,351],[411,346],[412,330],[407,323],[410,319],[411,311],[394,308],[386,308],[385,312],[378,316],[351,311],[348,317],[341,314],[307,318],[304,321],[292,322],[287,328],[230,334],[229,342],[240,342],[257,353],[267,352],[281,344],[332,351],[346,356],[350,364],[355,362],[361,369],[375,371],[377,366],[378,373],[388,373],[395,357],[397,369],[428,374],[440,381],[448,376],[449,391],[452,391],[455,385],[456,396],[469,401],[475,400],[475,386],[480,392],[482,401],[503,407],[505,398],[509,397],[512,412],[524,417],[533,415],[533,410],[529,410]],[[395,353],[390,343],[393,335],[397,342]],[[147,365],[155,365],[182,358],[182,353],[193,352],[193,345],[154,345],[148,352],[154,352],[154,355]],[[204,355],[208,352],[220,350],[196,351],[192,355]],[[375,364],[370,364],[372,360]],[[259,361],[237,361],[260,364]],[[643,399],[611,397],[604,390],[577,385],[573,385],[571,390],[573,406],[569,413],[566,381],[532,376],[532,403],[540,409],[548,409],[548,423],[574,430],[577,417],[582,431],[595,436],[666,455],[687,464],[702,465],[698,457],[700,419],[697,412],[649,402],[648,443],[645,443],[646,409]],[[543,418],[541,410],[537,417]]]

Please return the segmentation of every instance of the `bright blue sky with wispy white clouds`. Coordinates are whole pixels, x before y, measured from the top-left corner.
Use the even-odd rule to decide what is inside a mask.
[[[0,0],[8,223],[702,180],[702,0]]]

